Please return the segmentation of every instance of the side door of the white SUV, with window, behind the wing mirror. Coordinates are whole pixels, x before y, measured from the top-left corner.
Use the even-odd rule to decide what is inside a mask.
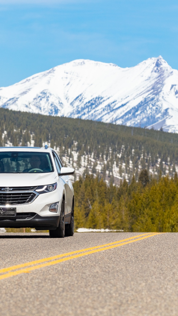
[[[60,169],[62,167],[62,164],[59,160],[58,155],[53,151],[53,155],[54,155],[54,161],[55,161],[55,165],[57,168],[58,173],[60,174]],[[68,176],[61,176],[60,177],[61,180],[64,182],[64,188],[66,191],[66,208],[65,208],[65,216],[67,217],[67,215],[69,215],[69,213],[71,212],[71,207],[70,207],[70,192],[69,192],[69,179]]]

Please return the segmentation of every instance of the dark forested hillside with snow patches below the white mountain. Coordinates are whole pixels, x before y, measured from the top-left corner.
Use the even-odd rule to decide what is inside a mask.
[[[143,168],[157,177],[178,171],[177,134],[2,108],[0,117],[1,146],[48,143],[76,169],[75,180],[92,173],[119,184]]]

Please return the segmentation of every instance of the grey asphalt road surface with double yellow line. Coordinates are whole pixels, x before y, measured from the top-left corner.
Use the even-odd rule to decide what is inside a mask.
[[[1,316],[177,316],[178,234],[140,234],[1,233]]]

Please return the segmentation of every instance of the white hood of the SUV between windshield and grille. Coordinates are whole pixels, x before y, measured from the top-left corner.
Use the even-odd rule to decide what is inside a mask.
[[[57,172],[53,173],[0,173],[0,187],[37,186],[53,184]]]

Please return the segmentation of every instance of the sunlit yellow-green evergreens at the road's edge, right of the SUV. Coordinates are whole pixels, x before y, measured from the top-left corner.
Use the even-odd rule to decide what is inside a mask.
[[[178,177],[150,177],[146,169],[138,182],[124,179],[107,186],[86,175],[73,185],[75,228],[109,228],[129,232],[178,232]]]

